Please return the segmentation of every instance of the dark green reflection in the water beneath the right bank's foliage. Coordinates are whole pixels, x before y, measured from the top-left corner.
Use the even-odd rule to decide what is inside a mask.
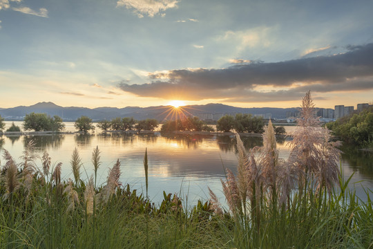
[[[341,147],[341,150],[344,152],[342,160],[347,161],[350,169],[365,178],[373,179],[373,153],[371,151],[361,151],[348,146]]]

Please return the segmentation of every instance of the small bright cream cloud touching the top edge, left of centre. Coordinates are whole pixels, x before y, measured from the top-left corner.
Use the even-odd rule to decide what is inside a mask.
[[[178,8],[177,3],[178,0],[119,0],[117,7],[125,6],[129,10],[133,10],[140,18],[144,15],[154,17],[157,14],[164,17],[162,12],[169,8]]]

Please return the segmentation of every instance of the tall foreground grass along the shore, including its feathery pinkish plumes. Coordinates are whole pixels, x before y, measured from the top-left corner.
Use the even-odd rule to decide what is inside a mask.
[[[38,157],[32,143],[21,163],[4,150],[1,248],[373,248],[370,190],[365,202],[349,191],[338,142],[329,142],[313,113],[307,93],[287,160],[278,157],[271,122],[260,148],[246,151],[236,135],[237,174],[227,169],[222,181],[228,209],[211,190],[209,201],[194,206],[166,193],[151,203],[147,191],[120,182],[119,160],[97,186],[97,147],[86,181],[77,149],[74,181],[62,181],[61,163],[52,165],[46,152]],[[147,179],[146,152],[144,172]]]

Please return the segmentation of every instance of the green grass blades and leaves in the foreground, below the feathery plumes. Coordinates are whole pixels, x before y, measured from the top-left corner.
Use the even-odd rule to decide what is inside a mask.
[[[308,183],[305,194],[293,193],[287,208],[258,195],[254,212],[260,212],[251,216],[217,214],[211,201],[183,206],[180,197],[165,192],[162,203],[155,205],[129,185],[114,185],[103,203],[106,186],[89,192],[90,183],[61,181],[58,170],[28,175],[25,165],[17,169],[10,155],[3,158],[1,248],[372,248],[369,190],[367,201],[358,201],[347,187],[351,178],[344,181],[343,176],[330,194],[308,191]],[[16,169],[15,177],[4,177],[10,176],[5,165]],[[11,187],[8,178],[17,181],[17,187]]]

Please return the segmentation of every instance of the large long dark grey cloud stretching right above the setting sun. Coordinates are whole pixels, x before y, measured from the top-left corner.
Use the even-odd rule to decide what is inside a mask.
[[[244,59],[242,59],[244,60]],[[226,101],[295,100],[319,93],[373,89],[373,44],[337,55],[285,62],[235,64],[227,68],[187,68],[149,75],[148,84],[119,83],[142,97]]]

